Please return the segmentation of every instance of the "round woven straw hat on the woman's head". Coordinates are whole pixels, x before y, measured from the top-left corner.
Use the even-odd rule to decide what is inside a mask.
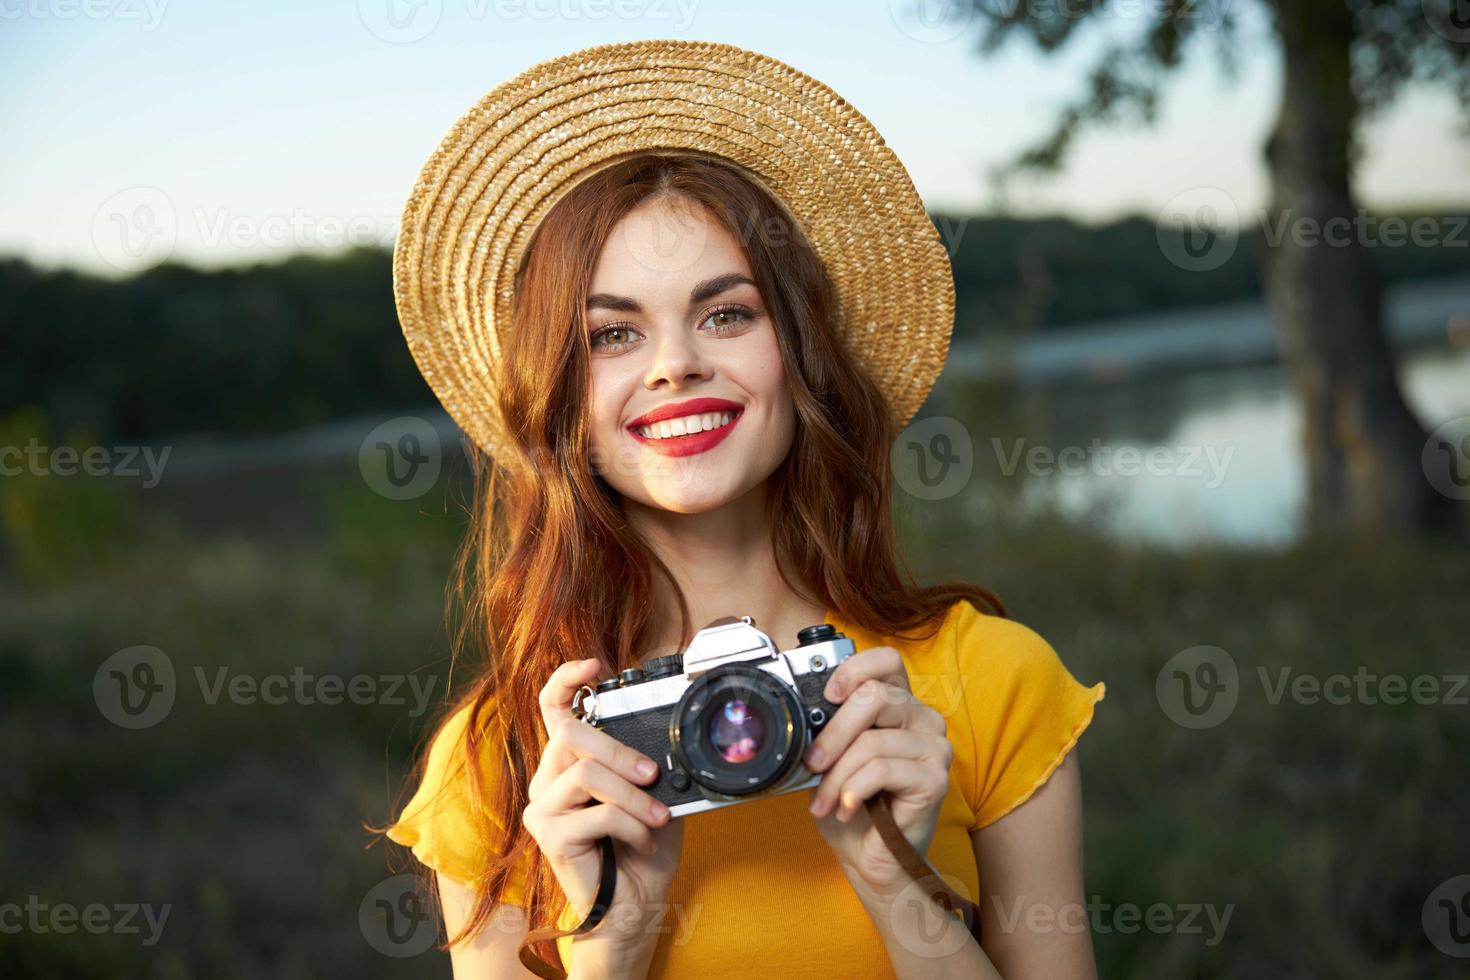
[[[950,350],[950,257],[908,172],[857,109],[773,57],[713,41],[600,44],[492,88],[423,165],[392,279],[409,350],[484,450],[506,445],[495,364],[520,257],[579,179],[638,151],[723,157],[764,184],[820,256],[838,332],[898,426]]]

